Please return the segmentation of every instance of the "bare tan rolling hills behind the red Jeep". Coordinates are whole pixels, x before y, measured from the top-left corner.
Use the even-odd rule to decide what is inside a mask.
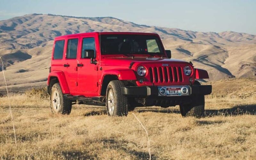
[[[8,85],[46,81],[54,37],[93,31],[157,33],[165,49],[172,50],[172,58],[192,61],[196,68],[206,69],[210,80],[256,76],[255,35],[146,26],[113,17],[29,14],[0,21],[0,56]]]

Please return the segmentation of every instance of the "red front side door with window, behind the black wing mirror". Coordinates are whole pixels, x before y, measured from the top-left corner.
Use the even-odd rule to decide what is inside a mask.
[[[80,36],[80,47],[78,57],[78,92],[85,96],[94,96],[98,91],[98,63],[92,64],[90,58],[85,58],[84,50],[93,50],[95,59],[98,60],[99,55],[96,52],[95,36]]]

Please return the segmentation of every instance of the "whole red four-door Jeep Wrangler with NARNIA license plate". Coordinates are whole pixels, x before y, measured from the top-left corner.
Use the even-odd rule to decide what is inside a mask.
[[[200,117],[209,78],[191,62],[171,59],[157,34],[93,32],[56,37],[48,76],[53,113],[72,104],[106,106],[109,116],[135,107],[180,105],[182,116]]]

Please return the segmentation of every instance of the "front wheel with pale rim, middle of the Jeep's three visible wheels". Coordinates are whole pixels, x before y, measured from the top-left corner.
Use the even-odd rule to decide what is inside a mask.
[[[124,83],[119,80],[109,82],[106,92],[108,116],[127,116],[128,99],[121,92]]]

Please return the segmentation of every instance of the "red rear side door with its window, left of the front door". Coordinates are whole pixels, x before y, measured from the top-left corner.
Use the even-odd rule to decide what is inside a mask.
[[[68,83],[70,94],[76,95],[77,92],[77,53],[79,36],[68,37],[66,40],[65,63],[63,71]]]

